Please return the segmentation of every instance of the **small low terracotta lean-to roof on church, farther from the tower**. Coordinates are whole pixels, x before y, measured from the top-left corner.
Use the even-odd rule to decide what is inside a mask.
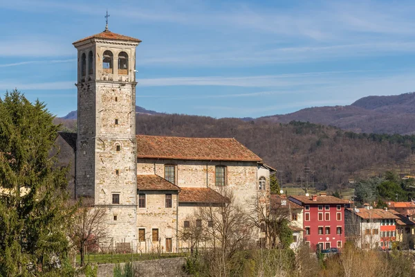
[[[178,202],[222,204],[229,202],[229,199],[212,190],[212,188],[180,188]]]

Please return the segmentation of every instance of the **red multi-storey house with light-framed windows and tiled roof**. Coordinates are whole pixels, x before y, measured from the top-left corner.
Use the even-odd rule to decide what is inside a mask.
[[[344,238],[344,206],[349,201],[325,195],[295,195],[290,200],[304,207],[304,242],[310,247],[341,248]]]

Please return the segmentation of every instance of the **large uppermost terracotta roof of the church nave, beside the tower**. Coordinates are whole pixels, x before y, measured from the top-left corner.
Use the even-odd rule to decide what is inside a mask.
[[[236,139],[137,136],[137,157],[203,161],[261,161]]]

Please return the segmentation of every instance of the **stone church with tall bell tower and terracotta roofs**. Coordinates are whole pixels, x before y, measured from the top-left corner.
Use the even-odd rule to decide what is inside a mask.
[[[107,209],[109,240],[134,252],[176,252],[196,208],[225,203],[223,187],[248,208],[269,193],[275,170],[235,139],[136,135],[140,42],[106,27],[73,43],[77,134],[61,136],[75,152],[73,194]]]

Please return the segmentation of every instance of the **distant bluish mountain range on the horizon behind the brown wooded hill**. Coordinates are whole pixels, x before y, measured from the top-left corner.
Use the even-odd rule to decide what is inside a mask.
[[[136,106],[136,114],[163,114]],[[62,119],[75,119],[71,111]],[[351,105],[310,107],[291,114],[275,114],[260,118],[240,118],[243,121],[266,120],[289,123],[293,120],[332,125],[356,133],[415,134],[415,93],[394,96],[367,96]]]

